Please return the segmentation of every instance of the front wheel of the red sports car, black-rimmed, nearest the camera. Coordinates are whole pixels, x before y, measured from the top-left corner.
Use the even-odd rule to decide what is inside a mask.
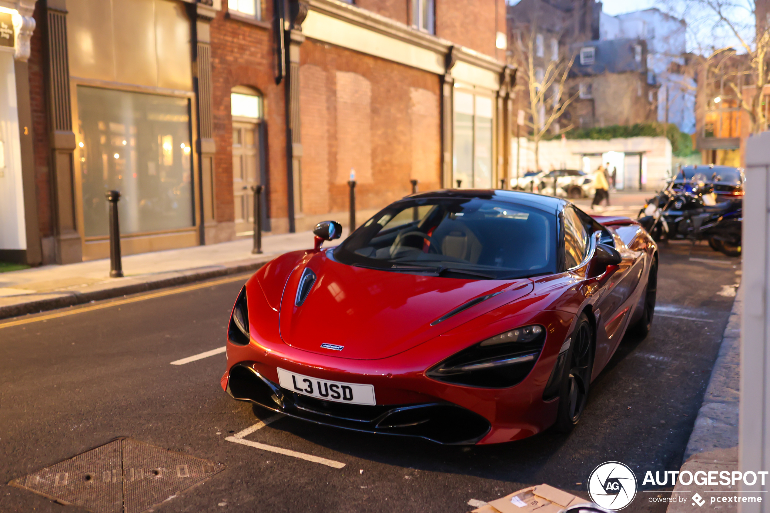
[[[564,375],[559,391],[559,409],[554,428],[569,433],[580,421],[588,403],[588,388],[594,369],[594,330],[585,314],[577,318],[577,328],[571,335]]]

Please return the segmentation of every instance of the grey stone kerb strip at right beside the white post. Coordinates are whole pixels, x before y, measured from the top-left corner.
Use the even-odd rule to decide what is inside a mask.
[[[741,375],[741,315],[743,301],[741,288],[735,294],[730,318],[722,334],[721,345],[703,403],[695,418],[690,439],[680,471],[734,471],[738,470],[738,404]],[[685,489],[689,488],[689,489]],[[671,502],[667,513],[695,511],[698,506],[687,500],[693,495],[695,485],[682,485],[679,481],[671,492],[671,498],[685,501]],[[714,486],[698,486],[698,491],[723,491]],[[721,505],[725,511],[736,511],[736,506]]]

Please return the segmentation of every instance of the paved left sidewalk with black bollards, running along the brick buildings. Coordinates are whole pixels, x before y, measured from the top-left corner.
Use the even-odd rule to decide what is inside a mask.
[[[249,238],[126,256],[124,278],[109,278],[109,258],[3,272],[0,319],[253,271],[282,253],[313,248],[313,233],[268,235],[262,242],[262,255],[252,255]]]

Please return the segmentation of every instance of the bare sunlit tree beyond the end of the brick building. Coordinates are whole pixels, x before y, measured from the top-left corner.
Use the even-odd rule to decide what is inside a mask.
[[[526,82],[522,84],[522,88],[527,93],[527,102],[524,102],[523,108],[527,114],[524,118],[524,125],[531,130],[527,138],[534,142],[535,168],[540,169],[541,139],[549,130],[554,135],[560,135],[573,128],[573,125],[560,127],[558,121],[566,111],[567,106],[577,98],[579,92],[574,93],[574,95],[568,93],[565,95],[564,92],[567,75],[569,75],[574,63],[574,55],[569,59],[565,58],[564,55],[559,55],[559,58],[551,59],[545,65],[545,59],[542,56],[538,58],[537,52],[535,52],[536,26],[531,26],[526,32],[528,32],[528,37],[519,37],[517,41],[514,41],[511,60],[520,70],[518,76],[524,78]],[[526,72],[526,75],[521,72]]]

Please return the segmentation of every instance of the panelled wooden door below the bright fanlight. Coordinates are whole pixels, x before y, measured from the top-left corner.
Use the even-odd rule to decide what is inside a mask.
[[[233,205],[236,235],[253,235],[254,193],[259,185],[259,137],[256,123],[233,122]]]

